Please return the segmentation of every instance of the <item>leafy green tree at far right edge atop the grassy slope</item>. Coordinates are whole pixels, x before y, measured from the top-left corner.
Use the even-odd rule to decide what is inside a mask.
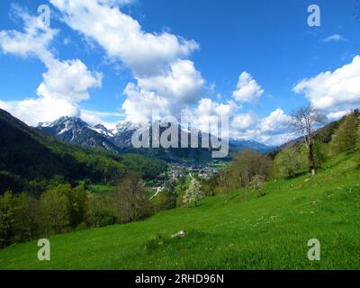
[[[354,111],[345,117],[331,140],[331,148],[335,153],[351,151],[356,148],[359,123],[358,111]]]

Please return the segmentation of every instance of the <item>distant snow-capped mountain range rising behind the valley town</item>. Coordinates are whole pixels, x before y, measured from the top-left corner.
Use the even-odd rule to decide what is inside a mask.
[[[137,124],[130,121],[118,123],[114,130],[109,130],[102,124],[91,126],[76,117],[61,117],[51,123],[40,123],[38,129],[44,130],[58,139],[79,144],[88,148],[104,148],[114,153],[136,153],[148,157],[157,157],[168,162],[208,162],[212,160],[211,148],[133,148],[131,137],[139,128],[147,129],[147,124]],[[150,128],[150,139],[152,130]],[[166,128],[160,128],[160,134]],[[179,129],[179,132],[182,130]],[[184,130],[183,130],[184,131]],[[198,131],[199,143],[202,143],[202,133]],[[180,147],[180,143],[179,143]],[[252,148],[262,153],[273,150],[257,141],[229,141],[230,155],[246,148]]]

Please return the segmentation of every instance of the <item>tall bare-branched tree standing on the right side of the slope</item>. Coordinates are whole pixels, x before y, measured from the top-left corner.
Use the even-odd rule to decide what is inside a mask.
[[[325,117],[311,105],[297,109],[292,113],[289,120],[289,125],[293,132],[304,137],[306,148],[308,148],[308,158],[312,175],[317,174],[313,132],[317,124],[323,123],[325,123]]]

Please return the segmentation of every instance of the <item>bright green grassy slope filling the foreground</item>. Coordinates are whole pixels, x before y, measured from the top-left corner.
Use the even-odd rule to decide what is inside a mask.
[[[51,260],[37,242],[0,250],[1,269],[360,269],[360,171],[339,155],[311,178],[266,184],[266,196],[206,198],[193,209],[149,220],[50,238]],[[185,238],[170,238],[184,229]],[[307,258],[320,239],[321,260]]]

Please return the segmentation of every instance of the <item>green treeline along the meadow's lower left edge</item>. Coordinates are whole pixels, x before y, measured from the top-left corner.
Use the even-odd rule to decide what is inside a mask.
[[[175,195],[151,191],[134,174],[125,175],[112,194],[88,193],[85,184],[57,184],[41,194],[0,196],[0,247],[77,229],[142,220],[175,207]]]

